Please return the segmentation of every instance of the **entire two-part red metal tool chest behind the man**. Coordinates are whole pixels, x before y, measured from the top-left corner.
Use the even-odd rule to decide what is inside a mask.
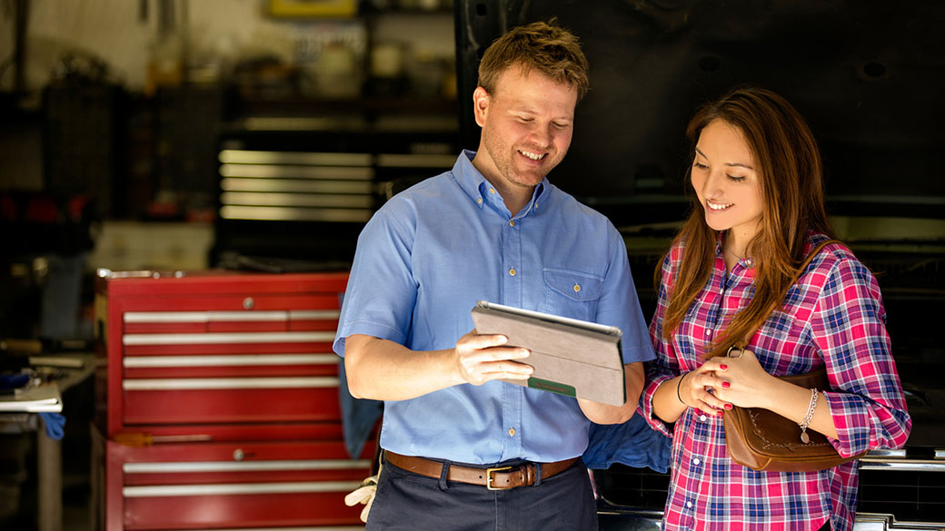
[[[332,351],[347,273],[96,284],[96,529],[363,529]]]

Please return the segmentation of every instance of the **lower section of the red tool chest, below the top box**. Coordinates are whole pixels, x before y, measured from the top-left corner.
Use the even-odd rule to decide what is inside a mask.
[[[370,474],[372,443],[358,459],[341,441],[94,444],[108,531],[363,529],[344,496]]]

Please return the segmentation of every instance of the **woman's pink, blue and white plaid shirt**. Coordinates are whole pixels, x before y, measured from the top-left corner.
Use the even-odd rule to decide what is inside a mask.
[[[823,239],[810,234],[808,251]],[[816,530],[831,519],[834,530],[851,531],[857,461],[820,472],[752,471],[730,459],[721,417],[690,408],[675,426],[667,426],[653,415],[657,387],[701,365],[713,337],[754,294],[750,260],[727,273],[720,245],[721,239],[711,278],[667,341],[662,316],[683,246],[671,250],[650,325],[657,359],[647,369],[641,411],[654,428],[673,437],[665,529]],[[831,442],[840,454],[905,444],[912,420],[885,331],[879,285],[849,249],[831,244],[821,250],[747,349],[776,376],[826,364],[833,391],[825,395],[839,436]]]

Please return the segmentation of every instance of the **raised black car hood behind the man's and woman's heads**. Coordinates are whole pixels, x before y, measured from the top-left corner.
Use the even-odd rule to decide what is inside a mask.
[[[738,84],[782,94],[808,119],[834,213],[945,212],[945,3],[458,0],[464,146],[478,145],[482,51],[553,16],[583,42],[592,91],[550,179],[618,225],[680,215],[686,122]]]

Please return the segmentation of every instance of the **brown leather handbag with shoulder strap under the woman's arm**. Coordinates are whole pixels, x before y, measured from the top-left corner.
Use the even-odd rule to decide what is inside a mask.
[[[799,275],[816,254],[830,243],[838,242],[827,240],[818,245],[799,267]],[[824,367],[805,374],[778,378],[818,391],[830,389],[827,369]],[[813,430],[806,431],[806,442],[801,441],[797,422],[761,407],[733,406],[730,411],[724,412],[723,420],[731,459],[755,471],[822,471],[866,454],[841,457],[827,437]]]

